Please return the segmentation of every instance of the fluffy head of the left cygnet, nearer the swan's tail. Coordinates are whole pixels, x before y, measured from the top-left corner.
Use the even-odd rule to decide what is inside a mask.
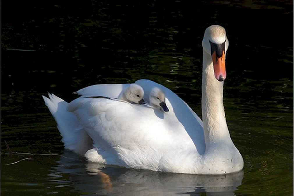
[[[128,102],[134,102],[138,104],[145,103],[144,90],[138,84],[130,84],[130,86],[124,91],[124,97]]]

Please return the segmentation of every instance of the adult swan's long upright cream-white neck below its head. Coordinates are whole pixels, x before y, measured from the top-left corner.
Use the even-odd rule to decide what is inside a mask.
[[[202,72],[202,118],[206,150],[213,143],[221,143],[227,139],[231,141],[223,107],[223,82],[215,78],[212,58],[205,51]]]

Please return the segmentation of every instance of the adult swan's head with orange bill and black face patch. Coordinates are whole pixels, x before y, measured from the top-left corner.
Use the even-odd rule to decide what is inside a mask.
[[[214,75],[222,82],[226,77],[225,54],[229,46],[225,29],[219,25],[211,25],[205,30],[202,40],[203,51],[211,55]]]

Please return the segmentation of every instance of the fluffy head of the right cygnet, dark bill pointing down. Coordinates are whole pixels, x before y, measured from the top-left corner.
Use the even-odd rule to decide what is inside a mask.
[[[149,95],[150,104],[160,107],[164,112],[168,112],[169,109],[166,106],[165,97],[166,93],[162,89],[153,87]]]

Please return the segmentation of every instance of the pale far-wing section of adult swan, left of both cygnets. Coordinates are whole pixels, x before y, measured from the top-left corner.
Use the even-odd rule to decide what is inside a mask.
[[[82,95],[81,97],[105,96],[118,98],[123,89],[127,88],[129,85],[130,84],[96,84],[80,89],[74,93]]]

